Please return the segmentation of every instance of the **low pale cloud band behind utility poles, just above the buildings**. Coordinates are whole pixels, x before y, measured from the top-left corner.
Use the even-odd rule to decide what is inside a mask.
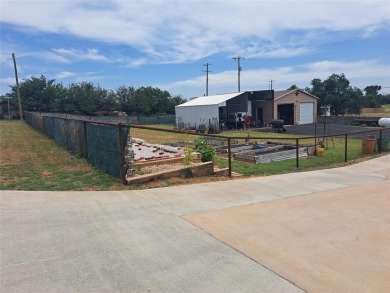
[[[368,85],[390,84],[390,73],[386,64],[375,60],[356,62],[320,61],[297,66],[282,66],[274,69],[252,69],[241,72],[241,90],[268,89],[269,81],[274,80],[273,88],[284,90],[293,84],[298,87],[310,87],[314,78],[327,79],[332,74],[344,73],[351,86],[363,89]],[[185,98],[203,95],[205,76],[177,81],[159,87],[171,93],[187,93]],[[209,94],[237,91],[237,71],[224,71],[209,74]]]

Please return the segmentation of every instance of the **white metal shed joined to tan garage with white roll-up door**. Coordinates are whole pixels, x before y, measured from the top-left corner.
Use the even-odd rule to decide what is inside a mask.
[[[207,125],[214,132],[242,128],[243,117],[251,116],[251,125],[266,126],[273,119],[286,125],[313,123],[318,98],[303,90],[246,91],[194,98],[175,107],[176,127],[195,129]]]

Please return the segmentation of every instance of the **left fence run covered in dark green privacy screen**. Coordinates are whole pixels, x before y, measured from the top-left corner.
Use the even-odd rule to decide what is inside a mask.
[[[85,116],[24,112],[25,121],[73,154],[125,182],[125,146],[130,126]]]

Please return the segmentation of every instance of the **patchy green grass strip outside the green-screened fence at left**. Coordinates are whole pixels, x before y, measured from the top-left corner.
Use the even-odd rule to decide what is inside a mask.
[[[20,121],[0,120],[0,189],[123,189],[121,180]]]

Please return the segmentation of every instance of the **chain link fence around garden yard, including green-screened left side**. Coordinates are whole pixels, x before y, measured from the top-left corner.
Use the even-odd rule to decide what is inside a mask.
[[[58,116],[58,117],[57,117]],[[188,150],[196,151],[203,141],[213,150],[217,168],[228,168],[229,175],[261,176],[333,166],[349,160],[388,152],[390,128],[317,135],[250,131],[224,131],[203,134],[174,130],[173,125],[134,125],[128,117],[103,122],[107,117],[26,112],[26,122],[41,130],[74,154],[107,173],[122,177],[137,172],[164,171],[171,163],[183,164]],[[109,118],[111,119],[111,118]],[[161,120],[160,120],[161,121]],[[143,121],[146,124],[146,121]],[[129,135],[131,128],[131,137]],[[325,135],[326,134],[326,135]],[[129,139],[131,138],[131,140]],[[154,168],[141,169],[144,163]],[[130,171],[130,172],[128,172]]]

